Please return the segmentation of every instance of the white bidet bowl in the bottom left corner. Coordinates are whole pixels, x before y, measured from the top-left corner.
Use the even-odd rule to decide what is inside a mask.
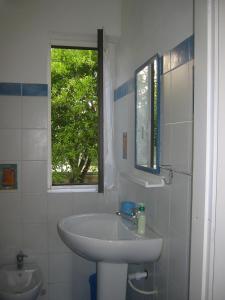
[[[35,264],[0,267],[0,300],[35,300],[42,287],[41,271]]]

